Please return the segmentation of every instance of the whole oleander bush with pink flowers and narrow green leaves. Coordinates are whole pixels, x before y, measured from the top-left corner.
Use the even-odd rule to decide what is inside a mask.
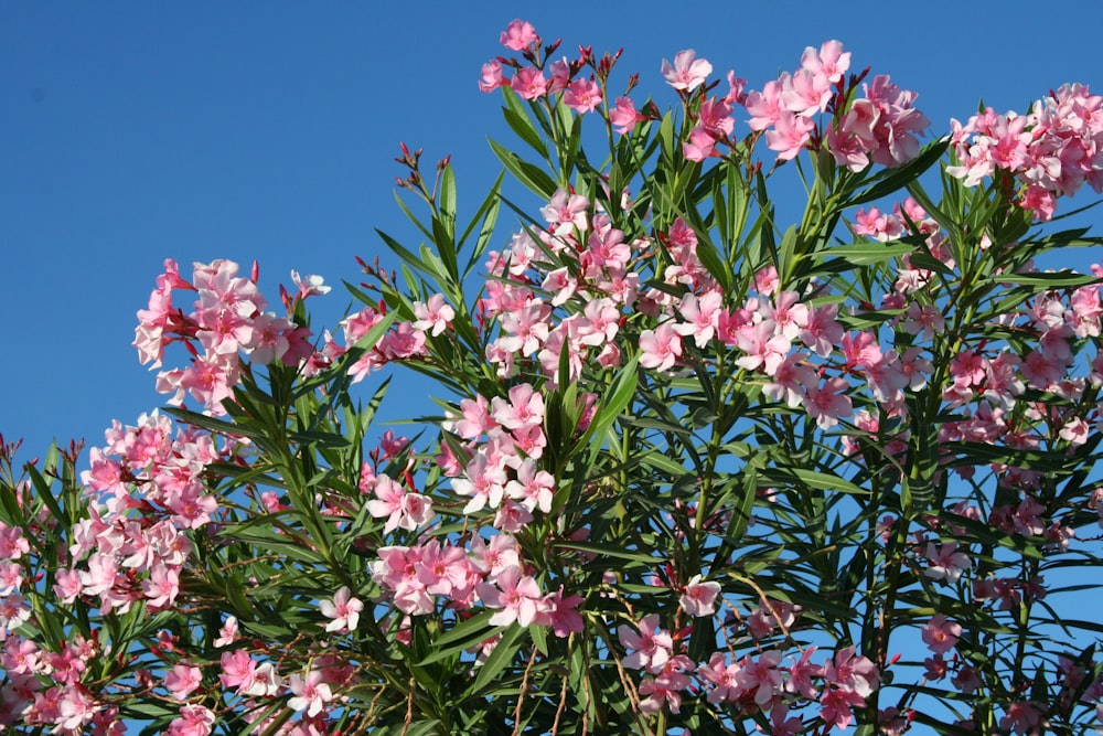
[[[167,262],[135,345],[190,356],[175,433],[116,425],[83,473],[4,447],[0,726],[1094,729],[1099,627],[1054,580],[1100,564],[1103,268],[1040,270],[1095,241],[1036,221],[1099,189],[1099,98],[921,148],[915,94],[837,41],[722,98],[683,51],[666,114],[610,93],[619,53],[502,43],[479,86],[538,161],[492,145],[535,196],[507,239],[497,186],[458,228],[449,161],[404,146],[432,245],[381,233],[401,277],[361,262],[342,342],[308,342],[318,277],[277,317],[256,268]],[[439,394],[413,440],[371,427],[387,365]]]

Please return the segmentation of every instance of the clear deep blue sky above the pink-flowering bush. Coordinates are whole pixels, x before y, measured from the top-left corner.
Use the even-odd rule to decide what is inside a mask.
[[[0,433],[29,459],[52,438],[101,445],[113,418],[163,403],[130,343],[165,258],[185,275],[258,259],[274,303],[292,268],[322,275],[336,288],[314,328],[334,327],[354,257],[396,265],[374,228],[418,244],[394,202],[399,141],[430,168],[451,154],[461,217],[484,196],[486,138],[513,138],[476,79],[516,17],[571,56],[623,46],[615,78],[639,72],[663,107],[660,65],[683,49],[761,88],[828,39],[919,92],[934,135],[982,96],[1025,110],[1065,82],[1103,88],[1089,1],[4,2]]]

